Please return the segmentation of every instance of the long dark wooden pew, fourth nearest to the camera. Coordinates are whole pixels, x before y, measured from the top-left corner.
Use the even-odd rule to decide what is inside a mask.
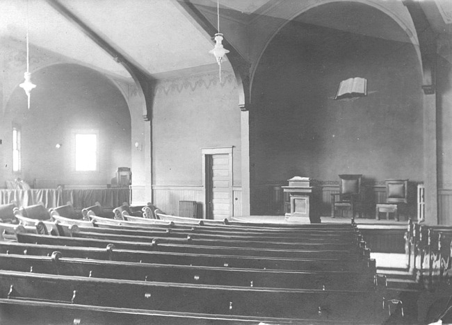
[[[67,247],[47,244],[26,244],[17,242],[0,242],[0,253],[51,256],[60,251],[68,258],[86,258],[93,260],[115,260],[132,263],[157,263],[172,265],[195,265],[209,267],[234,267],[246,269],[280,269],[295,271],[356,271],[376,273],[375,260],[369,256],[362,261],[342,260],[341,258],[271,258],[236,255],[209,255],[195,253],[167,253],[161,251],[138,251],[117,249],[108,244],[104,248]]]

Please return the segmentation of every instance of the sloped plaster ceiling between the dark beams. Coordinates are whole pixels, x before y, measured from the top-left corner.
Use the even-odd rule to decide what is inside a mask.
[[[48,1],[0,0],[0,41],[4,44],[5,40],[13,38],[24,42],[26,17],[29,17],[30,42],[35,47],[58,53],[71,62],[94,67],[101,72],[131,81],[131,76],[122,65],[116,63],[111,55],[88,38],[80,28],[50,6]],[[154,78],[174,76],[176,73],[189,74],[193,69],[211,71],[217,67],[213,56],[209,54],[213,47],[213,35],[200,28],[200,24],[184,6],[187,3],[194,6],[212,26],[216,26],[216,0],[51,1],[58,1],[67,7],[92,31],[123,53],[131,63]],[[220,22],[225,38],[245,60],[255,60],[252,47],[259,42],[267,42],[277,26],[293,18],[290,17],[293,14],[290,6],[315,7],[316,3],[327,0],[219,1]],[[450,38],[452,23],[452,8],[448,1],[430,0],[422,3],[435,31],[446,33],[446,38]],[[368,6],[362,4],[367,2],[377,7],[398,6],[403,11],[405,8],[401,2],[328,2],[331,3],[325,5],[326,7],[307,10],[297,17],[297,20],[305,24],[406,41],[403,29],[394,28],[394,22],[390,19],[388,24],[382,26],[380,18],[373,15]]]

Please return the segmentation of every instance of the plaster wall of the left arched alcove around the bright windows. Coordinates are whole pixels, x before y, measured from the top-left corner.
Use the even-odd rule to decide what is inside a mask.
[[[107,78],[79,65],[52,65],[33,73],[37,88],[26,108],[15,88],[1,121],[0,178],[57,178],[61,184],[106,185],[118,167],[131,165],[131,120],[127,103]],[[12,172],[12,123],[22,128],[22,173]],[[99,131],[99,172],[74,172],[72,130]],[[60,149],[56,144],[60,143]],[[4,183],[2,184],[4,185]]]

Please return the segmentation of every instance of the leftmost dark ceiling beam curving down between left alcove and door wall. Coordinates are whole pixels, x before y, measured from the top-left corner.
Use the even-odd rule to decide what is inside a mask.
[[[88,36],[90,40],[95,42],[101,49],[106,51],[113,60],[122,65],[127,72],[134,78],[134,81],[140,90],[143,92],[146,104],[145,120],[149,121],[152,116],[152,97],[154,88],[154,78],[147,73],[145,69],[138,66],[138,63],[133,63],[131,59],[127,58],[127,55],[121,53],[119,49],[113,47],[112,44],[102,38],[99,33],[96,33],[90,26],[83,22],[79,17],[74,15],[72,11],[63,6],[58,0],[46,0],[49,5],[65,17],[70,23],[74,24],[79,30]]]

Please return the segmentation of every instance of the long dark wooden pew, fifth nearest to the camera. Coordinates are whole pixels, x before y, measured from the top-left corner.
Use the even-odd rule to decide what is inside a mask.
[[[17,233],[17,242],[29,244],[51,244],[72,247],[106,247],[108,244],[114,244],[118,249],[139,249],[143,251],[160,251],[164,253],[198,253],[198,254],[223,254],[236,256],[255,256],[255,257],[280,257],[280,258],[315,258],[336,257],[344,260],[360,260],[366,256],[364,244],[353,251],[344,249],[342,251],[321,251],[315,250],[311,246],[309,250],[302,249],[261,249],[249,247],[220,247],[220,246],[202,246],[190,244],[189,240],[179,240],[179,244],[165,243],[168,239],[154,238],[152,242],[126,242],[122,240],[99,240],[92,238],[67,238],[49,235],[34,235],[29,233]],[[370,253],[369,253],[370,254]]]

